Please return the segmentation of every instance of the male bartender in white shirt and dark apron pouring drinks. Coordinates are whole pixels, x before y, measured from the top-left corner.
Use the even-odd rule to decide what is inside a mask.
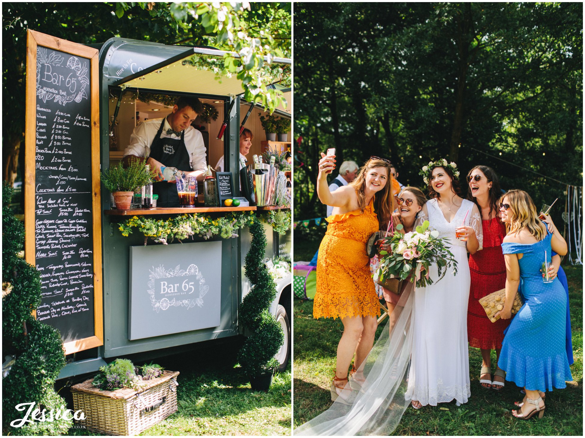
[[[164,119],[145,120],[136,126],[130,144],[124,150],[123,164],[140,159],[156,170],[153,192],[159,195],[157,206],[178,207],[176,181],[164,181],[161,167],[175,167],[202,181],[207,168],[205,143],[199,130],[191,123],[203,107],[195,97],[178,99],[173,112]]]

